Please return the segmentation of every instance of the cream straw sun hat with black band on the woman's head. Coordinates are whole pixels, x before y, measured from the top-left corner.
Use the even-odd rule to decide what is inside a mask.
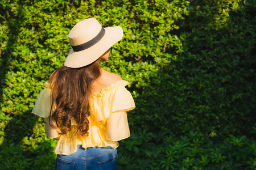
[[[89,65],[122,37],[123,30],[119,26],[103,28],[94,18],[82,20],[68,33],[72,49],[64,66],[79,68]]]

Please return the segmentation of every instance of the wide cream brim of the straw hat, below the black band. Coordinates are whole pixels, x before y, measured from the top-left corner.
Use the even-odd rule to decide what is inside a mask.
[[[80,52],[74,52],[73,49],[68,54],[64,62],[64,66],[71,68],[79,68],[93,63],[102,56],[111,46],[120,41],[123,37],[123,29],[117,27],[107,27],[105,35],[100,41],[88,49]]]

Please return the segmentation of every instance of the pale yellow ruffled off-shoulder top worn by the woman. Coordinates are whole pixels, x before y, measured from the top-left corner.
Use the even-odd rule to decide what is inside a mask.
[[[125,86],[129,84],[125,80],[111,84],[103,88],[101,92],[96,92],[90,97],[90,116],[89,116],[89,135],[72,136],[72,130],[69,133],[60,135],[59,129],[53,129],[49,126],[49,112],[51,109],[51,88],[49,83],[39,94],[32,113],[43,117],[46,121],[46,133],[48,138],[60,136],[59,141],[53,152],[56,154],[69,155],[77,151],[77,145],[82,147],[106,147],[117,148],[118,142],[130,137],[130,130],[127,121],[127,111],[135,108],[133,97],[126,90]],[[55,108],[53,108],[55,109]],[[52,122],[54,124],[54,122]],[[76,122],[71,120],[71,129],[76,129]]]

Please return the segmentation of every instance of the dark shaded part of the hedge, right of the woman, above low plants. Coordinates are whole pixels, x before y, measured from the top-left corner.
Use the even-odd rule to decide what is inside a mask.
[[[159,71],[140,88],[137,103],[144,114],[138,117],[145,128],[250,136],[256,121],[253,7],[249,2],[193,2],[191,18],[174,31],[182,52],[170,63],[158,62]],[[167,46],[167,52],[174,56],[176,51]]]

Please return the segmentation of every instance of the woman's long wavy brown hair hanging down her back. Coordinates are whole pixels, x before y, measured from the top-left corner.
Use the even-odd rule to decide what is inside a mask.
[[[50,77],[52,108],[50,113],[56,121],[60,134],[67,134],[71,130],[71,119],[76,121],[75,133],[84,137],[89,130],[89,97],[92,94],[92,84],[101,75],[98,61],[78,69],[66,66],[60,67]]]

